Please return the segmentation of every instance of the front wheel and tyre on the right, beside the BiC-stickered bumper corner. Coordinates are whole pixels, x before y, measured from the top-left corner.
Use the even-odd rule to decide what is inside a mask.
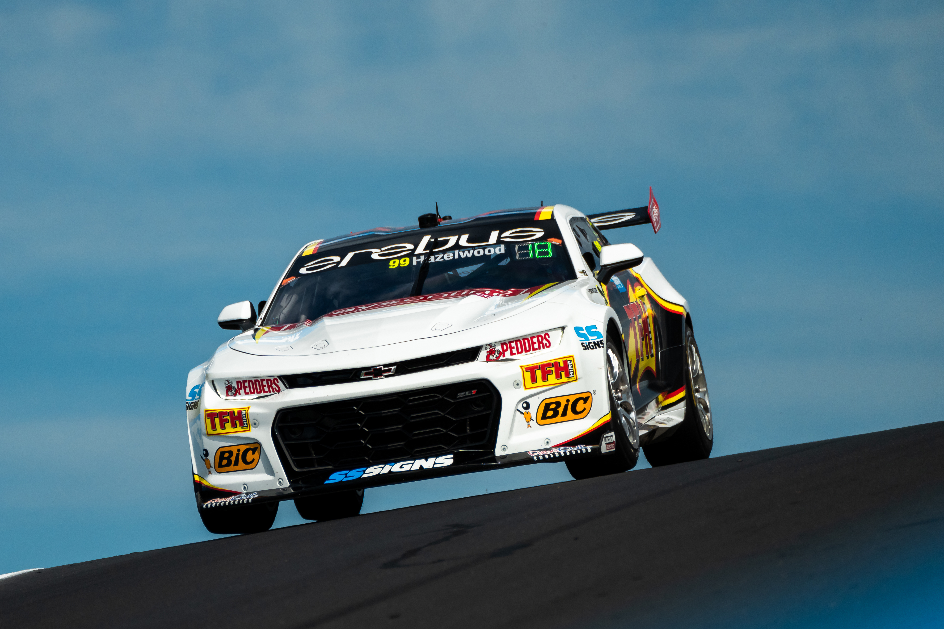
[[[611,455],[597,455],[565,460],[567,472],[577,480],[627,472],[639,460],[639,428],[632,406],[632,389],[626,374],[626,361],[620,343],[606,340],[606,374],[610,393],[610,426],[616,434],[616,450]]]

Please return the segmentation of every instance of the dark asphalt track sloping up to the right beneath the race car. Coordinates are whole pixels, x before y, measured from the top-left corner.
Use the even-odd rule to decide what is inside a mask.
[[[29,572],[0,626],[731,626],[940,540],[942,498],[936,422]]]

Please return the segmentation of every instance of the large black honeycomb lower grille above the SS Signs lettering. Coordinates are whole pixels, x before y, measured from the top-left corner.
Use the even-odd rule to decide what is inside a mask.
[[[284,408],[273,432],[295,472],[492,450],[501,397],[487,380]]]

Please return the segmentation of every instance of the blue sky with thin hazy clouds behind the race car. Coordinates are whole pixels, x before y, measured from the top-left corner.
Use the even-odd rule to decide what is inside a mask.
[[[941,32],[931,2],[4,3],[0,572],[209,538],[182,398],[220,308],[437,201],[652,186],[663,230],[611,234],[692,305],[716,454],[940,420]]]

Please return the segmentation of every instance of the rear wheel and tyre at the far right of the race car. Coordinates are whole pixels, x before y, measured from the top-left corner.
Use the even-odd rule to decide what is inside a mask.
[[[708,458],[715,442],[708,383],[691,326],[685,327],[685,362],[685,419],[671,437],[643,447],[653,468]]]

